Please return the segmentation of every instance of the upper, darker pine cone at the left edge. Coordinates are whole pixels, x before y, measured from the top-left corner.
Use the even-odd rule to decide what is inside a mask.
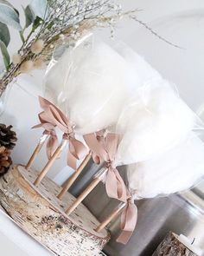
[[[0,146],[13,149],[16,146],[16,133],[11,130],[12,126],[6,126],[0,123]]]

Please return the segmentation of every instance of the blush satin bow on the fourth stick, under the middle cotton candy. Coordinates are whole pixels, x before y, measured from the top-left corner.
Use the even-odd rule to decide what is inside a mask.
[[[105,161],[105,189],[109,197],[126,202],[126,187],[114,164],[118,149],[118,135],[108,134],[104,143],[99,143],[94,134],[84,135],[88,147]]]

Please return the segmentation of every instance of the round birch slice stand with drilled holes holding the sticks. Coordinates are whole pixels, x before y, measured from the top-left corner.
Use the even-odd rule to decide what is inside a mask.
[[[16,166],[0,179],[0,204],[17,225],[59,256],[98,256],[110,240],[105,229],[97,233],[99,221],[80,204],[69,216],[65,213],[75,198],[56,195],[61,187],[45,177],[33,185],[38,173]]]

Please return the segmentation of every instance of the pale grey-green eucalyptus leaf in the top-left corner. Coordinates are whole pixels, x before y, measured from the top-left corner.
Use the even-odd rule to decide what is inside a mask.
[[[0,22],[7,24],[16,30],[22,30],[16,10],[14,10],[8,4],[2,3],[3,0],[0,1]]]

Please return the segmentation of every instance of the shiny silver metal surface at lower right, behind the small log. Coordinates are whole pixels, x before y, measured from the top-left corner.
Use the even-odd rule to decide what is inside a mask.
[[[117,224],[111,226],[112,240],[105,252],[112,256],[149,256],[166,233],[183,233],[204,249],[203,201],[194,193],[143,200],[138,207],[137,228],[126,246],[115,242]]]

